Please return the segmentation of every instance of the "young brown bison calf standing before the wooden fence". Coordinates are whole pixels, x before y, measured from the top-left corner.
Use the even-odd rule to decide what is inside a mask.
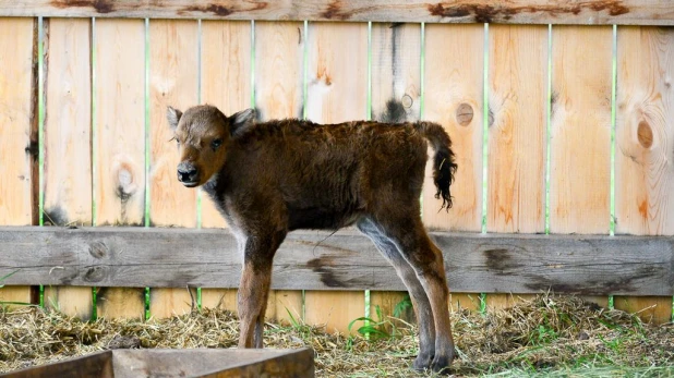
[[[408,288],[420,329],[414,368],[449,366],[454,342],[443,255],[429,239],[419,197],[426,141],[442,207],[452,206],[457,166],[438,124],[255,122],[255,111],[225,115],[212,106],[168,108],[180,148],[178,180],[203,185],[243,256],[239,347],[262,347],[272,260],[289,231],[356,224]]]

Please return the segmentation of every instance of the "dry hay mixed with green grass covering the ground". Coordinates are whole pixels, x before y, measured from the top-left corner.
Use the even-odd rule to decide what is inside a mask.
[[[653,327],[573,296],[541,295],[507,310],[453,314],[456,376],[674,376],[674,327]],[[390,333],[390,331],[388,331]],[[365,340],[269,324],[268,347],[311,346],[318,377],[428,376],[410,370],[416,330]],[[108,347],[234,347],[238,321],[203,309],[164,320],[81,321],[37,307],[0,313],[0,371]]]

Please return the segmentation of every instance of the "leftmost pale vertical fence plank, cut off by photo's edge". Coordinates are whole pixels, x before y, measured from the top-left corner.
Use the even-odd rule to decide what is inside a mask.
[[[0,224],[36,224],[37,40],[34,19],[0,19]],[[1,284],[1,283],[0,283]],[[31,303],[31,286],[0,288]]]

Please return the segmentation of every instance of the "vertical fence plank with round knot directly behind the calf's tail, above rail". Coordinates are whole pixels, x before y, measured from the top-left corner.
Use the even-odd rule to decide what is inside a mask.
[[[423,118],[449,133],[458,163],[448,212],[438,211],[442,204],[426,164],[422,217],[434,229],[482,229],[483,68],[483,25],[426,25]]]

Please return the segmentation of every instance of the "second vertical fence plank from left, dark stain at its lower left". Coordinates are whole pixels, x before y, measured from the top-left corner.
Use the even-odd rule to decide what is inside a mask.
[[[92,225],[92,51],[88,19],[45,20],[44,224]],[[92,288],[45,288],[45,305],[92,317]]]

